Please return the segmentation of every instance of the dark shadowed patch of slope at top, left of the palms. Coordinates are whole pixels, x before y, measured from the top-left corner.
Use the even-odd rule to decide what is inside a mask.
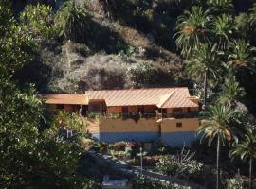
[[[175,1],[115,1],[106,7],[111,17],[123,26],[134,27],[146,34],[154,43],[175,52],[174,26],[184,5]]]

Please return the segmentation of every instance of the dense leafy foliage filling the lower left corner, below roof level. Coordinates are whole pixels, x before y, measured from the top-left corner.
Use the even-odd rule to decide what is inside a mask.
[[[39,130],[44,124],[44,107],[34,89],[22,93],[15,84],[3,80],[1,86],[0,180],[3,187],[82,187],[76,173],[80,148],[60,138],[54,125]]]

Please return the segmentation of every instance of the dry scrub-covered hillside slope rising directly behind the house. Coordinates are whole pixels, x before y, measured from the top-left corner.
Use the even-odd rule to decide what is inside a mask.
[[[170,47],[164,47],[168,43],[174,46],[173,28],[158,31],[166,32],[167,39],[171,39],[160,45],[161,39],[154,37],[158,23],[152,24],[152,30],[141,27],[145,30],[142,32],[106,16],[99,1],[84,2],[89,14],[85,41],[41,40],[36,60],[17,73],[19,80],[36,83],[42,93],[71,94],[91,89],[190,84],[184,60],[171,52]],[[144,24],[147,19],[144,18]]]

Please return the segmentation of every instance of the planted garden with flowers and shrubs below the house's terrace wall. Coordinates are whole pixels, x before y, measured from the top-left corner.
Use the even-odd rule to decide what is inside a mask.
[[[93,138],[83,138],[82,145],[88,150],[111,156],[113,159],[118,159],[128,165],[139,168],[141,166],[142,154],[142,167],[144,170],[171,176],[180,180],[192,181],[207,188],[215,188],[215,156],[212,156],[214,154],[214,148],[213,146],[207,146],[207,144],[199,144],[198,141],[194,142],[189,148],[164,146],[159,141],[152,143],[121,141],[107,144],[98,142]],[[225,157],[227,154],[223,153],[222,155]],[[226,161],[223,163],[222,168],[222,183],[227,188],[243,188],[243,184],[245,185],[247,180],[240,173],[237,173],[233,163]],[[145,180],[149,179],[140,178],[135,180],[135,182],[148,182]],[[156,184],[153,180],[150,183],[153,185]],[[153,185],[152,188],[154,188]],[[157,187],[155,186],[155,188]],[[161,186],[161,188],[169,187],[167,184]],[[171,188],[174,188],[174,185]]]

